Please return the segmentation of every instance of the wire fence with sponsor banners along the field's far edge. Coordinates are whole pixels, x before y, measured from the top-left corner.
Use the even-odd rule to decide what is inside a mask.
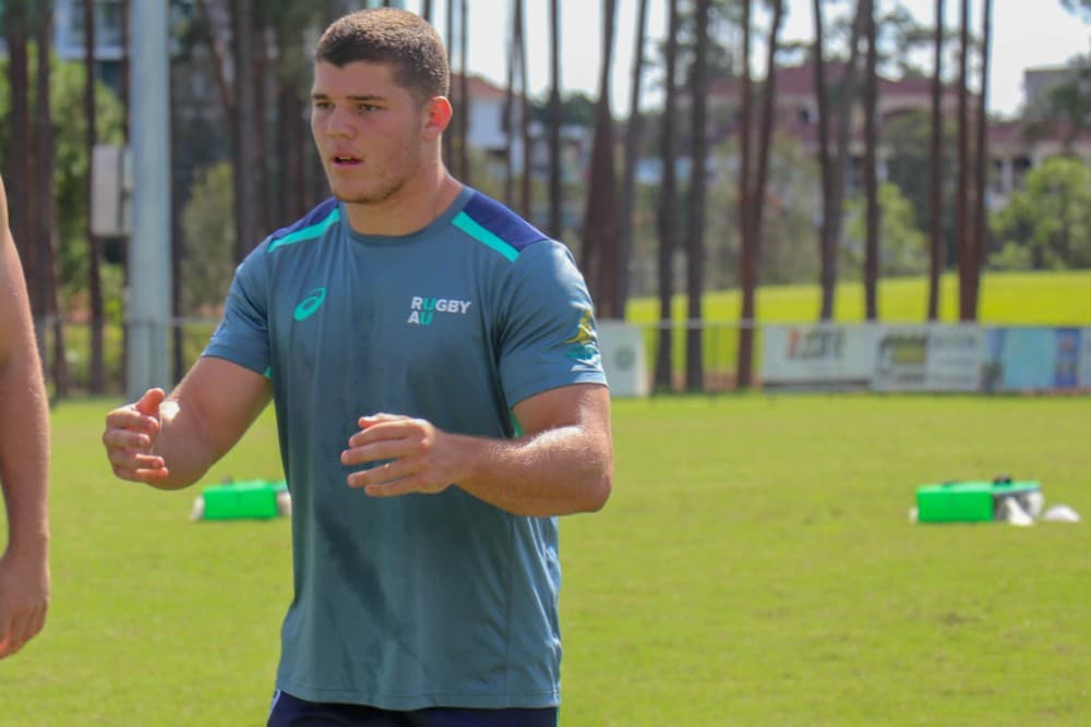
[[[180,381],[218,323],[212,317],[184,317],[161,324],[167,329],[157,334],[160,338],[166,334],[170,380],[156,384],[171,388]],[[646,393],[735,390],[742,334],[750,330],[750,385],[754,388],[839,390],[849,381],[848,388],[875,390],[1091,391],[1089,326],[971,326],[963,330],[955,325],[657,322],[628,324],[636,331],[630,331],[630,343],[611,347],[603,330],[610,324],[602,323],[600,344],[612,389],[621,378],[614,374],[620,372],[635,381],[632,388]],[[97,371],[88,322],[53,318],[39,324],[40,352],[53,400],[121,396],[127,390],[128,337],[122,323],[103,326]],[[161,356],[161,351],[154,353]],[[695,353],[702,365],[690,371],[687,361]],[[772,359],[765,362],[765,355]]]

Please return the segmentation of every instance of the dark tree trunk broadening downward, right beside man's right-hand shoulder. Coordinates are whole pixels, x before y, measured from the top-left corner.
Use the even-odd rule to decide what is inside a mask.
[[[580,267],[588,277],[591,296],[602,318],[618,318],[618,180],[613,163],[613,116],[610,113],[610,72],[613,65],[613,36],[616,1],[602,0],[602,57],[599,98],[595,106],[595,137],[591,145],[590,183],[584,206],[584,238]]]

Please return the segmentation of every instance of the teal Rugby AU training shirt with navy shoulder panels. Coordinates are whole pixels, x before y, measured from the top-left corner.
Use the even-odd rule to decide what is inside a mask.
[[[269,377],[292,497],[277,687],[389,710],[560,702],[555,518],[457,486],[371,498],[340,452],[374,412],[513,437],[512,408],[606,384],[568,250],[469,187],[423,230],[351,230],[329,199],[239,266],[204,355]]]

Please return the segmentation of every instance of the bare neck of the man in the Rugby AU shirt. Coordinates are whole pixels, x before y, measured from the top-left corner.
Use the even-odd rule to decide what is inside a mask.
[[[451,206],[461,189],[461,183],[441,167],[434,178],[411,180],[382,202],[346,202],[345,211],[355,232],[400,237],[431,225]]]

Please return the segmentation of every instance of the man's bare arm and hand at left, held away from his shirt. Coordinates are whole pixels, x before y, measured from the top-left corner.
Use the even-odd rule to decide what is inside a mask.
[[[169,397],[151,389],[106,415],[107,458],[121,480],[187,487],[235,446],[268,400],[264,376],[205,356]]]

